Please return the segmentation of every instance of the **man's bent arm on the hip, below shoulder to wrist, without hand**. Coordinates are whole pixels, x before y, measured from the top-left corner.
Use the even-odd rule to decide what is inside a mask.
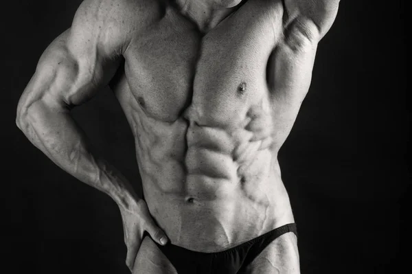
[[[114,47],[97,45],[100,35],[93,31],[98,22],[84,25],[84,13],[90,8],[82,5],[71,29],[41,56],[19,101],[16,124],[60,168],[126,206],[135,200],[129,183],[98,157],[69,113],[104,87],[119,64]]]

